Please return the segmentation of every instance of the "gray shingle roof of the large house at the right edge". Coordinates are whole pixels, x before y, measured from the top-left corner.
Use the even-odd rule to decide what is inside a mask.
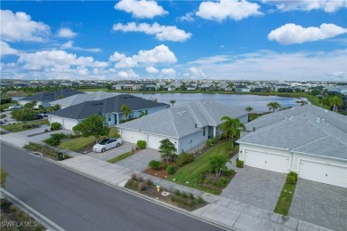
[[[347,160],[347,116],[312,105],[271,113],[246,123],[255,131],[239,143]]]

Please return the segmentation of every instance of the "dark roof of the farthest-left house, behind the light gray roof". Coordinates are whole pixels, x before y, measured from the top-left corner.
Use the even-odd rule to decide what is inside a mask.
[[[84,94],[84,92],[78,92],[73,89],[61,89],[54,92],[37,93],[20,100],[53,101],[58,100],[60,96],[62,96],[62,98],[65,98],[76,94]]]

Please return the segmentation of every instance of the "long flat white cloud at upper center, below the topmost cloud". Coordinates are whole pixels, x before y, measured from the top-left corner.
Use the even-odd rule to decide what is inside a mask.
[[[182,29],[176,28],[175,26],[161,26],[157,22],[152,25],[148,23],[140,23],[137,25],[135,22],[129,22],[126,25],[117,23],[113,25],[113,30],[143,32],[147,35],[155,35],[157,40],[160,41],[183,42],[191,37],[190,33],[186,33]]]

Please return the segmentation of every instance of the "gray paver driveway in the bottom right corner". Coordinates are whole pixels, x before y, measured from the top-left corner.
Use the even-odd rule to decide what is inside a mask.
[[[347,230],[347,188],[299,179],[289,216],[336,231]]]

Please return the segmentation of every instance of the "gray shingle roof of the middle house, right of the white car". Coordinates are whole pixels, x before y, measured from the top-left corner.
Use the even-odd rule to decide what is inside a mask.
[[[200,131],[207,125],[221,124],[222,116],[238,118],[246,114],[247,112],[244,110],[214,101],[195,100],[127,123],[121,123],[118,127],[182,138]]]

